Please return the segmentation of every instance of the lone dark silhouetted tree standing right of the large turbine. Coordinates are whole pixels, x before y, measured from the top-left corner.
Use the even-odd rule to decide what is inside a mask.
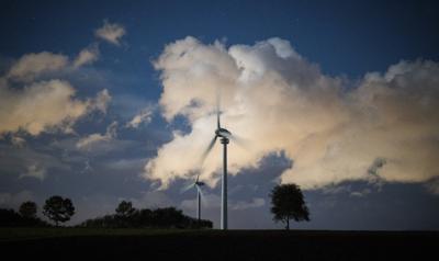
[[[281,184],[271,191],[271,213],[275,222],[284,222],[290,229],[290,219],[309,220],[309,212],[305,204],[301,188],[296,184]]]

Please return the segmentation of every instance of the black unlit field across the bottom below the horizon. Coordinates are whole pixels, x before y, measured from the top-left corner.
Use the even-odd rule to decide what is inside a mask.
[[[0,229],[0,249],[33,260],[432,260],[439,232],[15,228]]]

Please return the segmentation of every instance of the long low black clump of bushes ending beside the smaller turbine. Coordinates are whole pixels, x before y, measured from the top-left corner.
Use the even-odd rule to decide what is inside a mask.
[[[211,220],[198,220],[176,207],[136,209],[131,202],[121,202],[115,214],[88,219],[79,227],[99,228],[212,228]]]

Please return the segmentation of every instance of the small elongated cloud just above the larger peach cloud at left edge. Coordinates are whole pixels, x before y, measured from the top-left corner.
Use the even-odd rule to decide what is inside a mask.
[[[64,69],[68,63],[68,57],[60,54],[26,54],[12,65],[7,77],[19,81],[32,81],[40,75]]]

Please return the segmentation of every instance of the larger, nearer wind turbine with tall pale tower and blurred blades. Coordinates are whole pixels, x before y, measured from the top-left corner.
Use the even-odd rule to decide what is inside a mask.
[[[226,128],[221,127],[219,122],[219,102],[216,104],[216,129],[215,136],[212,141],[209,144],[207,149],[204,151],[202,160],[207,157],[207,154],[212,150],[213,146],[217,138],[223,144],[224,152],[223,152],[223,177],[222,177],[222,190],[221,190],[221,229],[227,230],[227,144],[229,139],[234,139],[232,133]]]

